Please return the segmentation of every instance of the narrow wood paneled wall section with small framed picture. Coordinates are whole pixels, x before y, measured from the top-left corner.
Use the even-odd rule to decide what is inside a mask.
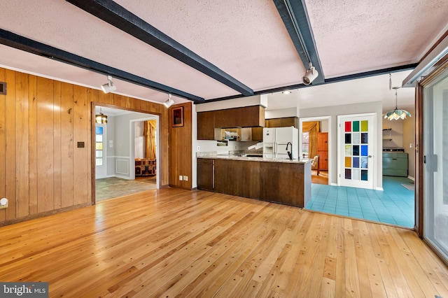
[[[169,120],[172,122],[172,109],[183,106],[183,126],[169,125],[169,185],[190,190],[192,188],[192,103],[176,104],[169,108]],[[188,176],[188,180],[179,180],[179,176]]]

